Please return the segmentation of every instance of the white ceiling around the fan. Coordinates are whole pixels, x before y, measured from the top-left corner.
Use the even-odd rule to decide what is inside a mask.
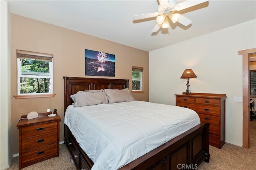
[[[7,1],[11,13],[144,51],[166,47],[256,18],[256,0],[209,0],[179,12],[192,20],[187,27],[177,22],[168,29],[152,33],[156,18],[138,22],[133,21],[132,16],[157,12],[157,0]]]

